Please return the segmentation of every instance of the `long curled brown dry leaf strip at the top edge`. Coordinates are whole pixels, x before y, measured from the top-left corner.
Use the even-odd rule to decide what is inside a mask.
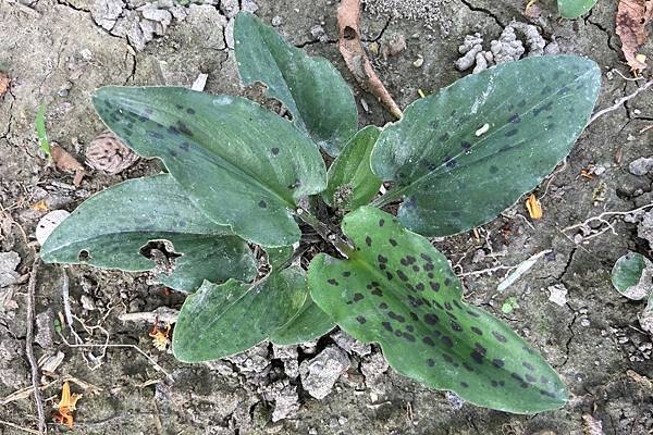
[[[372,64],[360,42],[359,23],[360,0],[342,0],[337,8],[341,54],[360,86],[377,97],[390,113],[398,120],[402,117],[402,110],[372,69]]]

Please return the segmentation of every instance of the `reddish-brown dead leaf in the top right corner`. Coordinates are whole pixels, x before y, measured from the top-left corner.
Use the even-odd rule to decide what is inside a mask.
[[[634,74],[646,69],[646,57],[637,50],[649,38],[646,24],[653,18],[653,1],[619,0],[616,33],[621,39],[621,51]]]

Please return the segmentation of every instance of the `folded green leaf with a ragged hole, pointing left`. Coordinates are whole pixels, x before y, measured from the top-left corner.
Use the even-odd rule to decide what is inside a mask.
[[[245,240],[209,221],[167,174],[130,179],[94,195],[48,237],[41,257],[49,263],[149,271],[155,261],[140,250],[150,240],[168,240],[182,254],[171,275],[159,275],[177,290],[195,290],[204,279],[256,276]]]

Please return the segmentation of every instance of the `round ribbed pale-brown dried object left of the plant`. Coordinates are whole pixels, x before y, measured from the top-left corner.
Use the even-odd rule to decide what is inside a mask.
[[[137,160],[138,154],[110,130],[100,133],[86,148],[86,164],[109,175],[126,170]]]

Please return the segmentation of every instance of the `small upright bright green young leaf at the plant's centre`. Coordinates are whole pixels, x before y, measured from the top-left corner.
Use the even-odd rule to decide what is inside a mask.
[[[367,206],[379,192],[381,179],[370,167],[370,154],[381,129],[370,125],[358,132],[329,167],[322,198],[342,210]]]

